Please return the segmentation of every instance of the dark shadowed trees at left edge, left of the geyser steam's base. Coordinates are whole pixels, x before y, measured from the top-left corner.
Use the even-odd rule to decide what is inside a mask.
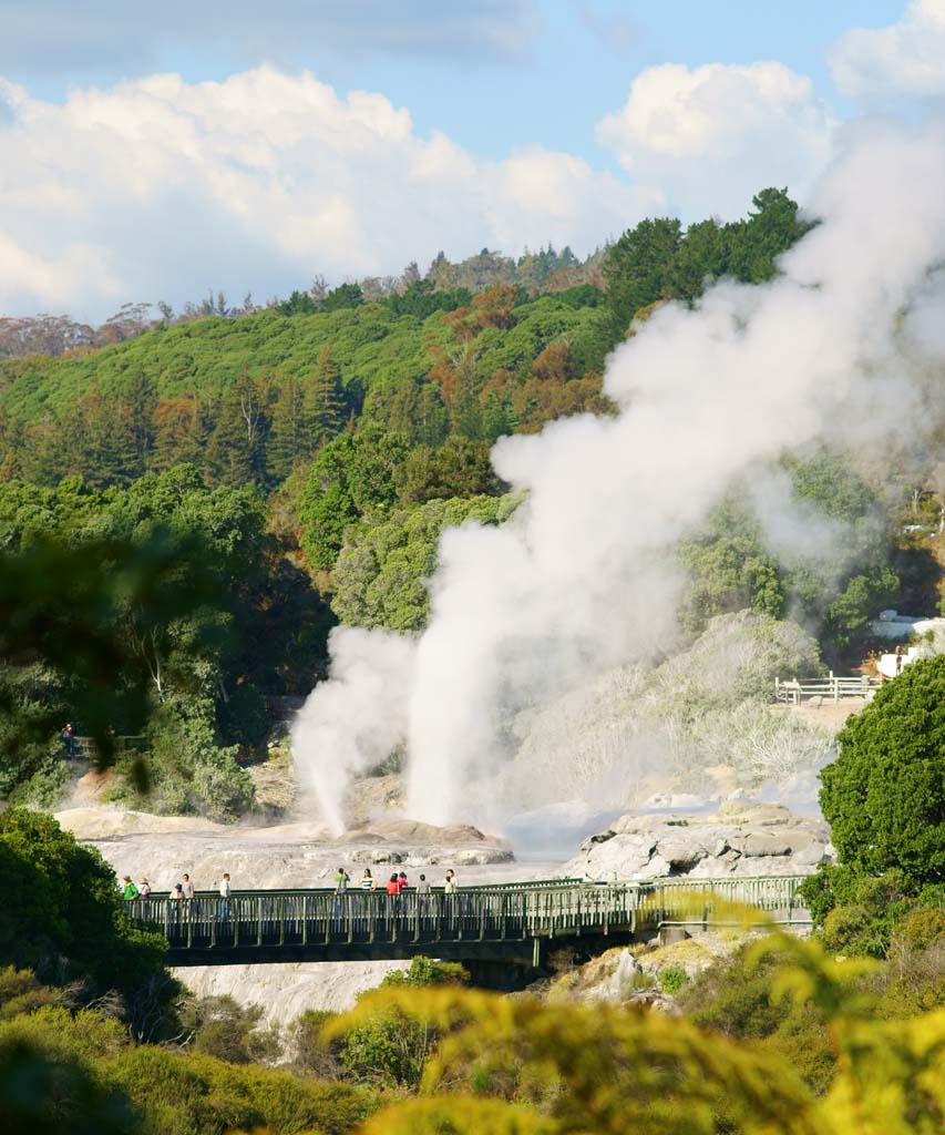
[[[210,810],[245,810],[252,791],[235,758],[267,739],[262,690],[307,691],[331,621],[265,532],[256,494],[209,488],[187,465],[123,494],[81,480],[10,481],[0,485],[0,530],[10,549],[0,557],[10,612],[0,634],[9,754],[0,792],[53,802],[68,770],[50,738],[73,721],[106,758],[112,730],[147,732],[153,762],[123,759],[121,798],[143,802],[150,768],[161,784],[153,806],[174,807],[175,793],[195,788],[167,774],[203,765],[195,783]]]

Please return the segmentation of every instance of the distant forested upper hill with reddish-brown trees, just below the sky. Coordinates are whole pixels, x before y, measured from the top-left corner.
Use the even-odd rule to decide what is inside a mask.
[[[352,419],[432,447],[535,430],[599,409],[604,360],[639,310],[691,300],[710,277],[765,279],[802,232],[793,202],[768,190],[745,221],[643,221],[607,251],[602,287],[542,294],[567,280],[559,271],[473,294],[454,281],[501,279],[504,261],[476,272],[439,259],[381,300],[343,285],[237,318],[159,323],[101,350],[7,359],[0,470],[108,486],[193,461],[211,482],[270,491]]]

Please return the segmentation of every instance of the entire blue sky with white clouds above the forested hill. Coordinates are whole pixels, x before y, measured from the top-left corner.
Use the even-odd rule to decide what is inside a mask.
[[[0,0],[0,316],[256,302],[802,203],[945,0]]]

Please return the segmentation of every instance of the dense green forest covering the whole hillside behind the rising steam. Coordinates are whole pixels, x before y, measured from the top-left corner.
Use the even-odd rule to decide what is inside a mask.
[[[720,277],[763,284],[811,224],[769,188],[742,221],[643,220],[583,262],[568,250],[517,261],[483,250],[459,264],[440,255],[425,276],[411,266],[396,280],[317,281],[264,309],[220,296],[178,316],[163,306],[158,320],[125,309],[98,329],[5,321],[5,553],[53,538],[82,561],[95,540],[161,538],[183,549],[182,571],[210,581],[199,609],[160,627],[113,613],[155,709],[151,806],[218,818],[250,807],[242,766],[265,739],[263,698],[311,689],[338,620],[422,629],[444,527],[515,511],[491,444],[611,412],[605,360],[634,320],[667,300],[694,303]],[[28,353],[37,342],[50,353]],[[800,612],[830,657],[900,590],[897,498],[844,454],[785,455],[784,470],[799,499],[844,523],[839,574],[779,563],[735,490],[683,543],[693,586],[682,621],[695,633],[726,611]],[[6,657],[0,684],[37,718],[90,725],[87,693],[54,666]],[[123,709],[125,684],[118,674],[119,734],[144,728]],[[0,792],[53,798],[56,742],[14,747],[5,730]],[[113,791],[136,798],[136,783],[126,768]]]

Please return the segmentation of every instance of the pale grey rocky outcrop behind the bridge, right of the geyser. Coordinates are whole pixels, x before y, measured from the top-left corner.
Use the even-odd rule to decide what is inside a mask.
[[[829,827],[778,804],[733,800],[704,814],[622,816],[560,874],[593,880],[804,875],[832,855]]]

